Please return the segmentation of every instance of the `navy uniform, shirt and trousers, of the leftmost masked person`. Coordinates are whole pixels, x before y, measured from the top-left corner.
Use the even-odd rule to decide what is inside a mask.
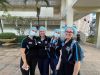
[[[22,69],[23,61],[21,58],[20,69],[21,69],[22,75],[35,75],[35,68],[36,68],[37,61],[38,61],[38,50],[37,50],[36,37],[33,37],[33,40],[30,39],[29,37],[26,37],[22,41],[21,48],[25,48],[26,60],[30,67],[28,71]]]

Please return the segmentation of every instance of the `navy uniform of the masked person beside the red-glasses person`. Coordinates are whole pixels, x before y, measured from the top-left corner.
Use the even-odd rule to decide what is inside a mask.
[[[62,45],[61,45],[60,38],[57,40],[51,39],[51,42],[50,42],[50,67],[53,71],[52,75],[56,75],[56,65],[59,60],[61,47],[62,47]]]

